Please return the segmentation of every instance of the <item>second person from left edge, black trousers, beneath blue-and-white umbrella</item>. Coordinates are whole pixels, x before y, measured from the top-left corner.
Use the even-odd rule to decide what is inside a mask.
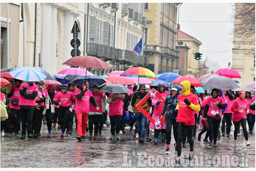
[[[9,133],[10,135],[12,135],[13,132],[15,132],[15,135],[18,135],[18,132],[21,127],[21,113],[20,113],[20,107],[18,105],[19,98],[21,97],[19,93],[21,80],[15,79],[14,82],[15,84],[10,87],[7,94],[7,97],[11,99],[10,100],[10,133]]]

